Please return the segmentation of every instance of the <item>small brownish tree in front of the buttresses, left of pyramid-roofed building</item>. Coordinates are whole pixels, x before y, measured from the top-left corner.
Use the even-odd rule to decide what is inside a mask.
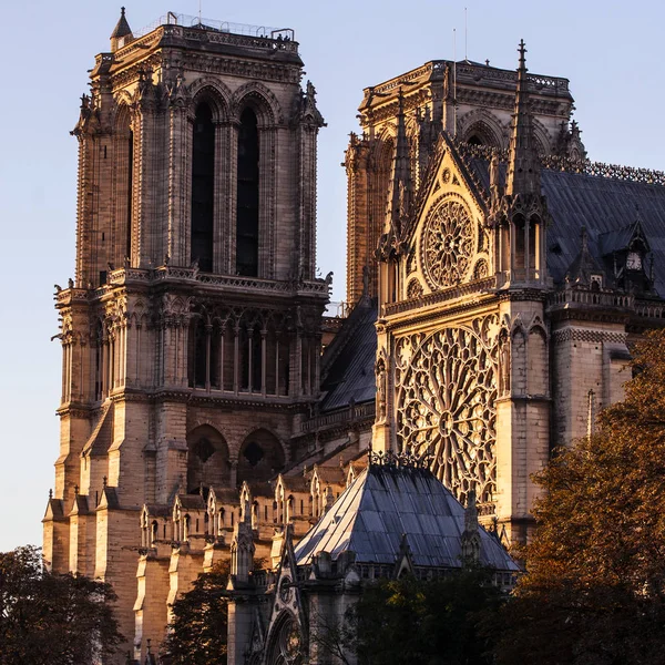
[[[224,665],[228,605],[228,563],[198,575],[173,604],[173,623],[164,643],[172,665]]]

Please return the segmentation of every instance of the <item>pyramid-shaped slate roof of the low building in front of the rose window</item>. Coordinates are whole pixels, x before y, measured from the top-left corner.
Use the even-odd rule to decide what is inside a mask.
[[[336,560],[356,553],[358,563],[393,564],[402,539],[417,566],[460,567],[464,509],[426,469],[370,464],[296,546],[298,565],[319,552]],[[484,565],[518,571],[499,541],[480,528]]]

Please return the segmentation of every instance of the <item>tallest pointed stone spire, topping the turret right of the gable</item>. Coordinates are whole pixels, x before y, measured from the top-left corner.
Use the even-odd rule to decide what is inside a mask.
[[[531,117],[524,40],[520,41],[518,51],[520,53],[520,66],[518,68],[518,91],[512,121],[505,193],[510,196],[518,194],[540,195],[540,161],[533,134],[533,119]]]

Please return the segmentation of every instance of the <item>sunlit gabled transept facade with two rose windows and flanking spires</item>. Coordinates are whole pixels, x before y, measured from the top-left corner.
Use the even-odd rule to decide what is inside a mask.
[[[538,124],[520,45],[507,163],[489,187],[464,142],[440,132],[411,195],[403,86],[378,242],[379,318],[372,448],[427,462],[481,519],[522,540],[530,474],[550,450],[545,260]],[[487,162],[483,162],[487,165]],[[487,173],[487,172],[485,172]]]

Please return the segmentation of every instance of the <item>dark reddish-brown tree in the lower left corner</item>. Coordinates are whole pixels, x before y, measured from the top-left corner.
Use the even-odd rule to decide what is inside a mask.
[[[84,575],[42,565],[38,548],[0,553],[0,665],[88,665],[122,641],[115,594]]]

